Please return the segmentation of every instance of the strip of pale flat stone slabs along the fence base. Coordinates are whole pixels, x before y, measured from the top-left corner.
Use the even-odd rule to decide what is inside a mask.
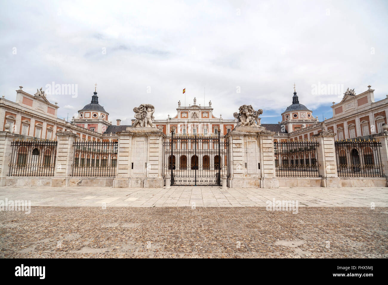
[[[6,198],[32,206],[258,207],[276,199],[298,200],[299,207],[388,207],[388,187],[0,187],[0,200]]]

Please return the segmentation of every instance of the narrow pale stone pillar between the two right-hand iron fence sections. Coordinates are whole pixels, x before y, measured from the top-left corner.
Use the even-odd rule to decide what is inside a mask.
[[[312,137],[318,143],[317,164],[319,175],[322,177],[321,187],[341,187],[337,172],[334,133],[322,131]]]

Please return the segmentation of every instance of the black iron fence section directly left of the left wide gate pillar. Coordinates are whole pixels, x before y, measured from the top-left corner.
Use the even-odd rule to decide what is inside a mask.
[[[74,142],[72,176],[116,176],[117,142]]]

